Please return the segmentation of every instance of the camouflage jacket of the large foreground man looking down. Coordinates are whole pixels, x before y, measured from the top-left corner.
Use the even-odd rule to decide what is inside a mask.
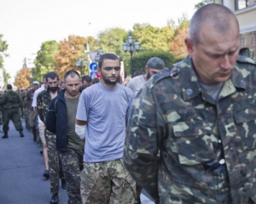
[[[255,80],[256,63],[239,57],[215,102],[189,56],[150,78],[126,131],[137,184],[157,203],[256,203]]]

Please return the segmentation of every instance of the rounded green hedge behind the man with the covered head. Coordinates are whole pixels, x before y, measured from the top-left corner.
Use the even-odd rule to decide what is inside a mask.
[[[147,65],[148,59],[152,57],[159,57],[163,59],[166,64],[166,67],[171,66],[173,63],[176,63],[179,59],[176,59],[170,52],[166,51],[143,51],[133,55],[133,72],[134,71],[143,71],[145,72],[145,65]],[[125,75],[131,75],[131,59],[125,59]]]

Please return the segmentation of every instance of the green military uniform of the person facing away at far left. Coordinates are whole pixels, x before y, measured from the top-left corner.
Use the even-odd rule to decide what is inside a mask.
[[[0,105],[3,107],[3,138],[8,138],[9,121],[15,125],[15,129],[20,132],[20,137],[24,137],[22,124],[20,121],[20,108],[23,108],[23,101],[20,95],[13,90],[9,90],[0,98]]]

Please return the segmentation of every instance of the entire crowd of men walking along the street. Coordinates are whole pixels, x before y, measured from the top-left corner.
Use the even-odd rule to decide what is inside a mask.
[[[256,62],[239,55],[239,25],[223,5],[198,9],[185,39],[189,55],[122,81],[120,59],[103,54],[101,80],[70,70],[33,82],[24,98],[0,98],[9,120],[43,146],[50,203],[59,183],[68,203],[256,203]],[[254,116],[255,115],[255,116]]]

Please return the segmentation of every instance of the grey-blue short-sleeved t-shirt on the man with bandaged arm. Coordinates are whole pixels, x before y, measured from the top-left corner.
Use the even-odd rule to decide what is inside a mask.
[[[87,121],[84,161],[113,161],[123,157],[126,120],[134,98],[130,88],[110,89],[96,83],[80,95],[76,118]]]

